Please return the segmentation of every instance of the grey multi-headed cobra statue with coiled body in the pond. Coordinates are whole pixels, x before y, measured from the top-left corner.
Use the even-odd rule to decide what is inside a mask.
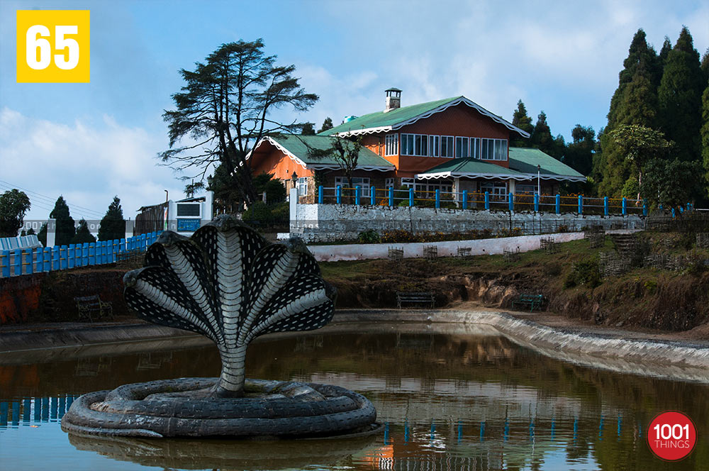
[[[320,277],[302,240],[269,243],[233,216],[220,216],[190,238],[162,233],[148,248],[145,267],[123,281],[125,301],[140,318],[210,338],[221,375],[84,394],[62,418],[65,431],[294,437],[356,435],[379,426],[374,406],[348,389],[245,378],[254,338],[313,330],[333,317],[335,288]]]

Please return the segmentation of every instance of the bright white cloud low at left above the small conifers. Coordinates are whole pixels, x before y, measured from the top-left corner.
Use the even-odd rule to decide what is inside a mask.
[[[172,170],[156,166],[155,155],[166,140],[123,126],[111,116],[104,116],[101,123],[77,120],[67,125],[28,118],[5,107],[0,110],[0,179],[50,198],[28,194],[33,201],[28,220],[47,218],[47,208],[60,194],[70,205],[94,211],[72,208],[77,220],[104,214],[116,194],[123,216],[135,218],[140,206],[163,201],[164,189],[172,199],[183,197]]]

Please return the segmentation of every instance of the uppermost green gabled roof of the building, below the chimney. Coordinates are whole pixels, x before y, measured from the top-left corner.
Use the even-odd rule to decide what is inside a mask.
[[[510,131],[515,131],[523,135],[525,138],[529,137],[529,134],[522,131],[520,128],[513,126],[508,121],[505,121],[500,116],[487,111],[479,104],[467,99],[465,96],[454,96],[452,98],[445,98],[442,100],[428,101],[426,103],[419,103],[411,106],[403,106],[398,109],[393,109],[388,112],[377,111],[376,113],[365,114],[364,116],[359,116],[359,118],[354,118],[352,121],[347,121],[347,123],[342,123],[339,126],[335,126],[328,131],[323,131],[318,135],[333,135],[337,133],[373,133],[380,131],[388,131],[389,129],[398,129],[401,126],[406,126],[407,124],[414,123],[421,118],[426,118],[430,116],[430,113],[437,111],[442,111],[448,106],[454,106],[457,104],[465,104],[473,109],[476,109],[484,116],[488,116],[496,123],[508,128]],[[379,129],[384,128],[384,129]],[[389,128],[389,129],[387,129]]]

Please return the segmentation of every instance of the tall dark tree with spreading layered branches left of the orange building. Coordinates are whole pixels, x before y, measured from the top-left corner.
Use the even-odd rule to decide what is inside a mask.
[[[239,203],[256,201],[247,155],[265,136],[303,127],[280,122],[275,111],[306,111],[318,100],[293,77],[294,65],[276,65],[277,57],[263,49],[261,39],[223,44],[194,70],[179,71],[185,85],[172,95],[176,109],[162,115],[169,149],[160,158],[179,172],[189,172],[182,178],[197,180],[191,189],[203,187],[209,170],[223,165]]]

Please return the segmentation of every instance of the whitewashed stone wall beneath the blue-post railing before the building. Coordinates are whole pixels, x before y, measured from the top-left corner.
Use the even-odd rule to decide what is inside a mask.
[[[295,207],[294,207],[295,206]],[[417,206],[354,206],[349,204],[298,204],[291,206],[291,235],[306,242],[354,240],[357,234],[372,229],[404,230],[412,233],[456,233],[489,229],[520,228],[525,235],[559,231],[582,231],[591,226],[606,230],[642,229],[644,217],[549,214],[530,211],[484,211],[434,209]]]

